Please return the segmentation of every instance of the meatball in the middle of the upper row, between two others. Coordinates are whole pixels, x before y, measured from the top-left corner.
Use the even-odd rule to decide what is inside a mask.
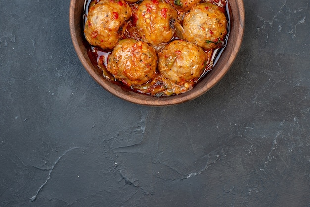
[[[136,17],[136,26],[142,40],[158,45],[173,37],[178,14],[170,4],[161,0],[144,0],[137,8]]]

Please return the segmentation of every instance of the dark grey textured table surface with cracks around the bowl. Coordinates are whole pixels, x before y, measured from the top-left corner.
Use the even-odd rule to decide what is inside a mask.
[[[0,0],[0,206],[310,207],[310,1],[244,0],[203,96],[131,104],[88,75],[69,0]]]

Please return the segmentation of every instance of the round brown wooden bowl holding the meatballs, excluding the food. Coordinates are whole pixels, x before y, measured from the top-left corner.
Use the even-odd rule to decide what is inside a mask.
[[[180,104],[199,97],[211,89],[226,74],[232,65],[241,46],[244,31],[244,6],[243,0],[227,0],[230,13],[230,33],[225,50],[221,54],[214,68],[200,80],[190,91],[169,97],[151,97],[129,91],[118,84],[114,84],[102,75],[99,68],[95,67],[87,54],[87,48],[83,44],[84,35],[82,28],[83,9],[85,0],[71,0],[70,2],[70,32],[75,51],[83,66],[91,77],[105,90],[126,101],[148,106],[166,106]]]

